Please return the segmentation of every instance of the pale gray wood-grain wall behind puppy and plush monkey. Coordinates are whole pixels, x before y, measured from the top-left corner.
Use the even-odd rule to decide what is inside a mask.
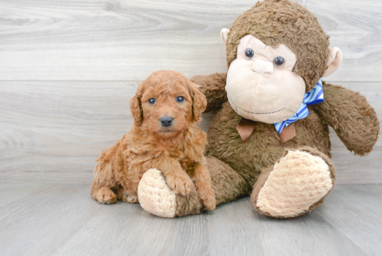
[[[132,125],[135,79],[226,72],[219,31],[254,3],[0,0],[0,182],[90,183],[101,150]],[[344,55],[325,80],[363,93],[382,120],[381,0],[299,3]],[[382,183],[381,139],[367,157],[333,130],[331,141],[339,184]]]

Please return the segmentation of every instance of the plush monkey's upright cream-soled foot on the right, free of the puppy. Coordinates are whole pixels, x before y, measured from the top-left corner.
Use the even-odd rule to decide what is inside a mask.
[[[311,147],[287,150],[274,166],[258,177],[251,200],[261,214],[291,218],[324,202],[335,184],[329,157]]]

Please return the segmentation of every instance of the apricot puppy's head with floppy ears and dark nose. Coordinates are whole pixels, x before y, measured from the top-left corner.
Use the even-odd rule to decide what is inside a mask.
[[[135,117],[137,100],[140,113]],[[151,74],[140,83],[131,102],[135,124],[146,126],[161,138],[181,134],[192,122],[199,121],[204,109],[206,97],[183,74],[174,71]]]

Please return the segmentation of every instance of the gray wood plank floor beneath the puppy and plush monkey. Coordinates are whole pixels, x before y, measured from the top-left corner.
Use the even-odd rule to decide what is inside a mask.
[[[382,185],[338,185],[310,214],[274,219],[249,198],[165,219],[100,205],[89,184],[0,184],[1,255],[381,255]]]

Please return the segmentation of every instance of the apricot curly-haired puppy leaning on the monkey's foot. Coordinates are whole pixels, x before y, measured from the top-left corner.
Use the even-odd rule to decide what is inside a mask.
[[[206,97],[183,74],[153,72],[131,99],[134,125],[128,135],[97,159],[92,197],[103,204],[138,202],[142,175],[156,168],[170,189],[188,195],[195,185],[204,205],[215,209],[204,158],[206,133],[197,127],[206,104]]]

